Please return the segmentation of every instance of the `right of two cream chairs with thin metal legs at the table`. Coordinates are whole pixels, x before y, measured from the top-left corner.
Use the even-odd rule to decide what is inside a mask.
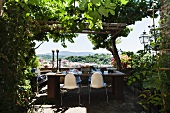
[[[106,89],[106,96],[107,96],[107,103],[108,103],[107,86],[106,86],[106,83],[104,83],[103,81],[103,76],[98,72],[93,73],[91,77],[91,84],[89,85],[89,104],[90,104],[91,88],[99,89],[103,87],[105,87]]]

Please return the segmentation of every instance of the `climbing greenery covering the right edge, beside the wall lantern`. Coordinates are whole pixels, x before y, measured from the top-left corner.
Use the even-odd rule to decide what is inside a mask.
[[[167,6],[168,3],[165,2]],[[163,6],[162,6],[163,7]],[[168,10],[169,7],[167,7]],[[169,16],[162,12],[162,19],[160,20],[160,27],[151,29],[150,45],[148,45],[147,54],[152,53],[149,59],[136,61],[140,68],[135,66],[135,73],[129,77],[129,84],[131,86],[138,86],[141,90],[139,102],[149,112],[153,112],[151,108],[155,108],[157,112],[168,113],[170,111],[170,71],[169,71],[169,26],[164,26],[169,23]],[[165,21],[166,20],[166,21]],[[153,31],[154,30],[154,31]],[[151,47],[151,48],[150,48]],[[146,53],[144,53],[145,55]],[[143,55],[140,55],[143,57]],[[151,60],[152,59],[152,60]],[[135,61],[135,60],[133,60]],[[148,62],[150,61],[150,62]],[[142,64],[142,65],[139,65]]]

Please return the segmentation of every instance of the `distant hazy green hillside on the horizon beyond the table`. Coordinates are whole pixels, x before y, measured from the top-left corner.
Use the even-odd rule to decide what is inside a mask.
[[[39,58],[44,60],[52,60],[52,53],[39,54]],[[56,59],[56,53],[55,57]],[[110,64],[111,54],[97,54],[91,52],[59,52],[59,58],[69,60],[71,62],[86,62],[86,63],[97,63],[97,64]]]

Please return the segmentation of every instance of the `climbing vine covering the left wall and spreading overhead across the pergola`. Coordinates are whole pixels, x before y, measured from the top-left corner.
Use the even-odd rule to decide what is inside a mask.
[[[127,1],[120,0],[120,3],[126,4]],[[114,14],[115,8],[114,0],[0,2],[0,112],[23,113],[31,105],[35,40],[53,39],[66,47],[65,41],[73,43],[76,32],[86,27],[83,23],[88,22],[94,30],[96,25],[100,28],[102,17]]]

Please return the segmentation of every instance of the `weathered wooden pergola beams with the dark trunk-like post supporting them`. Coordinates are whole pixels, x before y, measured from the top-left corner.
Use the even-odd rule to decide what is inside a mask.
[[[59,21],[41,21],[40,22],[41,25],[48,25],[49,27],[53,27],[55,30],[57,30],[58,32],[63,31],[64,33],[85,33],[85,34],[100,34],[100,35],[104,35],[104,34],[108,34],[111,36],[111,42],[112,42],[112,51],[114,54],[115,59],[117,59],[117,69],[121,70],[121,64],[120,64],[120,58],[118,55],[118,51],[116,49],[116,43],[115,40],[118,36],[118,34],[124,30],[127,26],[126,23],[106,23],[103,22],[102,23],[102,29],[97,29],[97,30],[92,30],[89,28],[89,23],[82,23],[83,25],[85,25],[85,27],[82,30],[77,30],[77,31],[72,31],[72,30],[68,30],[64,27],[62,27],[62,23]],[[54,27],[55,26],[55,27]]]

